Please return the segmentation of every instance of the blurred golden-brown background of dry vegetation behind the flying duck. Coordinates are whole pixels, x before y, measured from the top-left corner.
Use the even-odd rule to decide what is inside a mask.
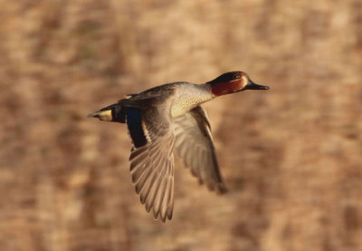
[[[362,2],[0,2],[1,250],[362,250]],[[242,70],[205,104],[229,193],[176,159],[175,210],[139,203],[123,95]]]

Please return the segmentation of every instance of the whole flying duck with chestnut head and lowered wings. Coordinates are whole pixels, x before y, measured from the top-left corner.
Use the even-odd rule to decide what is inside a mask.
[[[245,72],[225,72],[201,84],[170,82],[129,94],[88,117],[127,125],[132,183],[148,213],[152,210],[155,219],[165,222],[174,208],[174,150],[200,184],[220,194],[226,191],[201,104],[226,94],[268,89]]]

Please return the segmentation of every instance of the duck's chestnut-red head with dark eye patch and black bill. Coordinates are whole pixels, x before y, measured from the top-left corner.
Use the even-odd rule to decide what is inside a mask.
[[[242,92],[245,90],[269,89],[268,86],[252,82],[245,72],[226,72],[207,83],[211,85],[211,92],[213,92],[215,96]]]

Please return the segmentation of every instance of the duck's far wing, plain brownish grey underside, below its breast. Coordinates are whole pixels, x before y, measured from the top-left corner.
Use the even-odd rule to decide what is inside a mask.
[[[186,167],[205,182],[211,190],[224,192],[224,181],[220,174],[214,152],[210,123],[205,110],[201,106],[177,117],[175,123],[175,147],[177,153],[184,159]]]

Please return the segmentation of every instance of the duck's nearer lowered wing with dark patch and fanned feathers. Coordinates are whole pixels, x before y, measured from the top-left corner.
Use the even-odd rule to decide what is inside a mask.
[[[165,221],[174,207],[174,133],[170,112],[157,106],[126,108],[134,147],[129,157],[132,182],[146,210]]]

